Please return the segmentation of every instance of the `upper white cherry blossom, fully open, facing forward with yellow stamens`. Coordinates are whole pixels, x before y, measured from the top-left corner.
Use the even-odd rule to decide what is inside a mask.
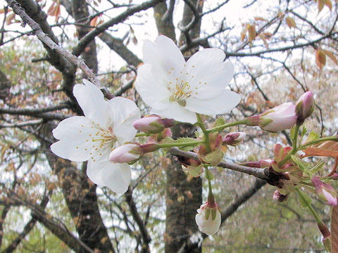
[[[220,49],[206,48],[185,62],[175,43],[162,35],[155,44],[144,41],[143,57],[135,88],[156,115],[194,124],[196,112],[223,114],[239,103],[240,96],[225,89],[234,67],[223,61]]]

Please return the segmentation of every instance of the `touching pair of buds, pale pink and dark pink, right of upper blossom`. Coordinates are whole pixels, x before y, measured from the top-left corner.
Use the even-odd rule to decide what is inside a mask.
[[[265,131],[275,133],[290,129],[295,124],[303,124],[304,120],[311,115],[314,108],[313,93],[307,91],[299,98],[296,105],[291,102],[282,103],[275,108],[266,110],[260,115],[246,118],[245,124],[259,126]]]

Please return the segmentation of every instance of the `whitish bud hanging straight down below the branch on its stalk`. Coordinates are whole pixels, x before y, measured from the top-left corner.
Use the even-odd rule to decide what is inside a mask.
[[[199,226],[199,231],[207,235],[214,235],[220,229],[220,207],[216,202],[206,202],[197,209],[195,221]]]

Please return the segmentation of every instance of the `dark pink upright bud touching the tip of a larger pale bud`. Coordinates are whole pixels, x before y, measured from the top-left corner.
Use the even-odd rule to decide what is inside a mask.
[[[311,115],[315,109],[315,100],[313,100],[312,91],[303,93],[296,103],[297,124],[303,124],[304,120]]]

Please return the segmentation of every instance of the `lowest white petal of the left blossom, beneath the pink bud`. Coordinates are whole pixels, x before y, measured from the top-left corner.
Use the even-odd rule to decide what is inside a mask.
[[[109,167],[102,169],[104,185],[119,194],[125,193],[128,190],[131,176],[130,166],[126,163],[111,163]]]

